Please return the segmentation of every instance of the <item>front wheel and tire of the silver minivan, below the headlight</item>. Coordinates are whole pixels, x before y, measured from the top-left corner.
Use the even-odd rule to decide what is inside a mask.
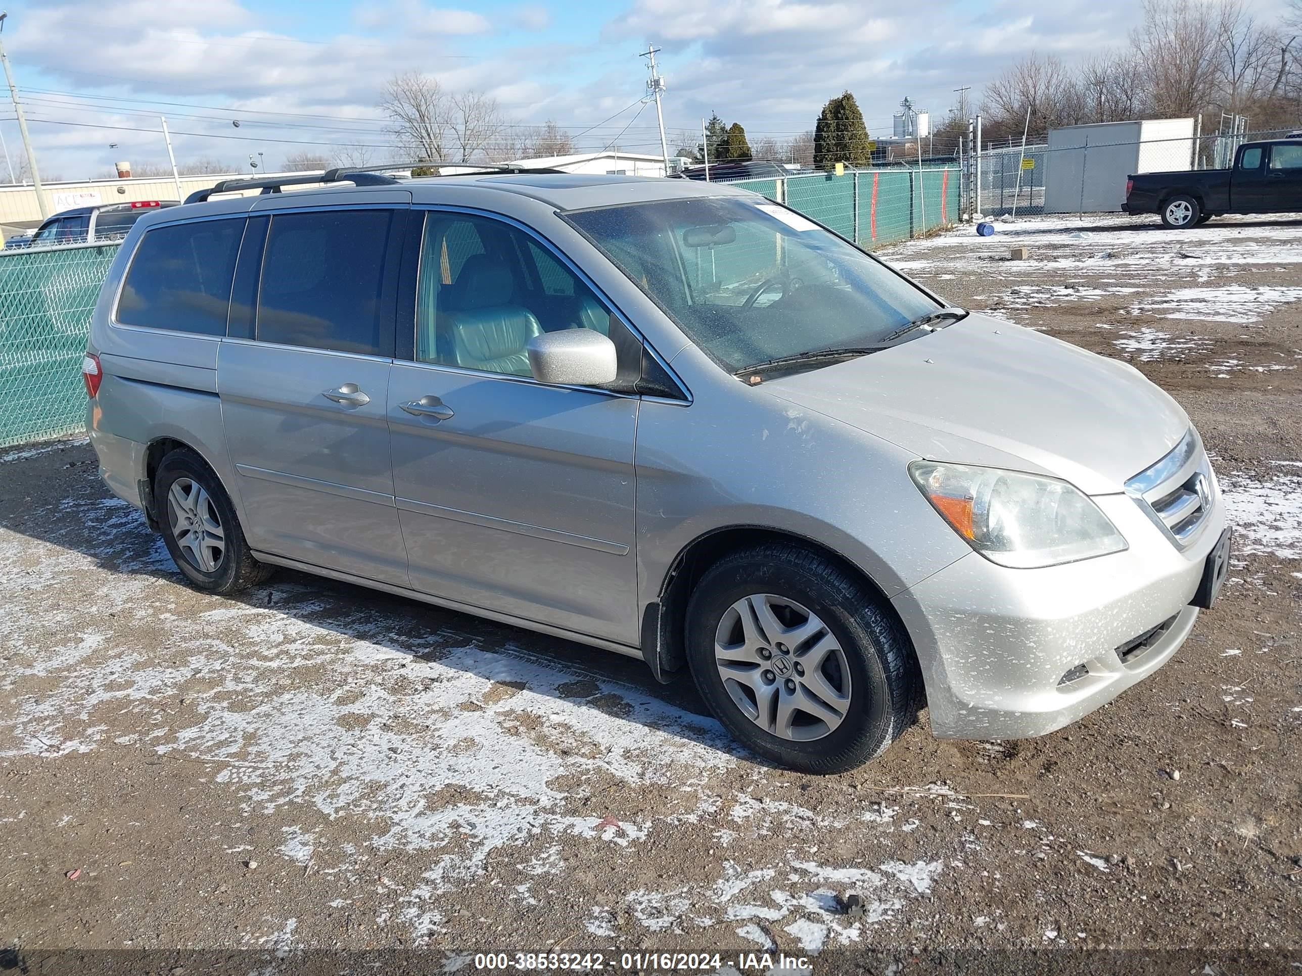
[[[719,721],[803,773],[879,756],[915,717],[917,666],[879,597],[809,549],[772,543],[711,566],[687,604],[687,664]]]

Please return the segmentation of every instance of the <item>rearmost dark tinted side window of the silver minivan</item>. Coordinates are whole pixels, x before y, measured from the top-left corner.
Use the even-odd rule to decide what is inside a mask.
[[[243,225],[240,217],[147,230],[122,284],[117,321],[224,336]]]

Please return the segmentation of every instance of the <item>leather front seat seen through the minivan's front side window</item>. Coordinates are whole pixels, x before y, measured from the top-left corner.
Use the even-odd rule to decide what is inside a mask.
[[[527,308],[512,305],[510,272],[488,255],[475,255],[461,268],[450,297],[448,332],[452,358],[470,370],[530,376],[525,346],[543,327]]]

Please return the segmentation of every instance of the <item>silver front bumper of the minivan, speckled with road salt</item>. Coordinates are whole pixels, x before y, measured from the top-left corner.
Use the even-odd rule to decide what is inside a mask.
[[[1035,570],[974,552],[892,600],[922,664],[935,735],[1055,731],[1152,674],[1189,636],[1190,600],[1225,528],[1219,492],[1184,550],[1131,496],[1094,501],[1129,549]]]

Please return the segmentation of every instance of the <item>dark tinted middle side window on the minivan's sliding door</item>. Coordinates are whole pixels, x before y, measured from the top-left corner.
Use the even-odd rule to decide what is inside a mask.
[[[381,314],[391,210],[277,213],[258,290],[263,342],[389,355]],[[388,333],[388,334],[387,334]]]

